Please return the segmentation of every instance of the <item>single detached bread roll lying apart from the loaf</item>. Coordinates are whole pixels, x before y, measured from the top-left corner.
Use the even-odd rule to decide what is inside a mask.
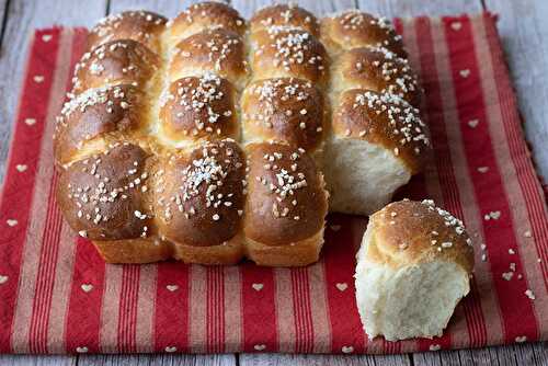
[[[442,335],[468,294],[473,249],[463,222],[432,201],[375,213],[357,253],[357,308],[369,338]]]

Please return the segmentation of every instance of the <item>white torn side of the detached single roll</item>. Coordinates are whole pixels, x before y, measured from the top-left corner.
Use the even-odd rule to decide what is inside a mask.
[[[388,341],[433,338],[468,294],[468,275],[452,262],[432,261],[390,267],[367,259],[374,236],[367,230],[357,254],[356,300],[369,338]]]

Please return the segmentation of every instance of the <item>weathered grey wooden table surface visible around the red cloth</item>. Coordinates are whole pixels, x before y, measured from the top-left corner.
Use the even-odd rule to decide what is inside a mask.
[[[189,0],[0,0],[0,180],[23,76],[28,35],[54,24],[91,26],[100,18],[126,9],[147,9],[173,16]],[[233,0],[244,16],[269,0]],[[546,0],[300,0],[323,14],[359,8],[385,16],[477,13],[500,14],[502,35],[524,128],[538,172],[548,180],[548,1]],[[389,356],[281,354],[226,355],[0,355],[0,365],[548,365],[546,343],[480,350],[442,351]]]

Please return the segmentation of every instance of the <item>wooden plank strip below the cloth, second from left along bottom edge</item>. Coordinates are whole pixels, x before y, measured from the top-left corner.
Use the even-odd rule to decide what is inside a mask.
[[[78,358],[78,366],[235,366],[236,356],[227,355],[85,355]]]

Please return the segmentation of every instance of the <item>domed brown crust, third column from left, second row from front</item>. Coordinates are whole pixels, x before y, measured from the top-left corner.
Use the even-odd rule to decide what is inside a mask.
[[[310,81],[266,79],[246,88],[242,129],[247,140],[278,140],[311,150],[323,137],[324,108],[320,91]]]

